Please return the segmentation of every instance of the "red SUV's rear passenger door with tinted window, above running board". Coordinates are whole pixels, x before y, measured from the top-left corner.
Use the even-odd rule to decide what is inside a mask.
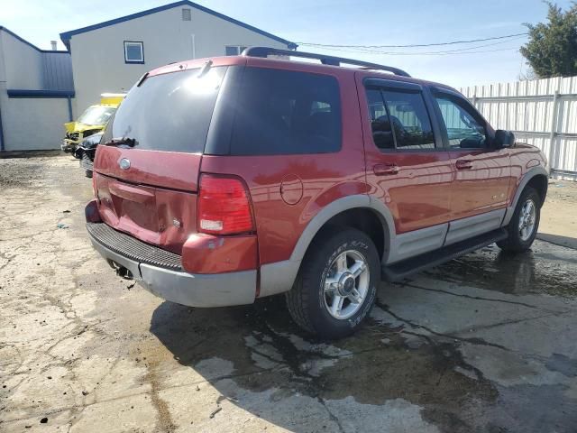
[[[371,194],[389,207],[398,235],[434,227],[419,235],[419,253],[440,247],[451,217],[453,173],[427,89],[397,80],[358,79]]]

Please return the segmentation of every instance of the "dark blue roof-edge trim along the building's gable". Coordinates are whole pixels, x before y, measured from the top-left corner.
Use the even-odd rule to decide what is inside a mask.
[[[179,7],[179,6],[190,6],[190,7],[194,7],[195,9],[205,12],[206,14],[211,14],[214,15],[218,18],[223,19],[224,21],[228,21],[229,23],[234,23],[236,25],[239,25],[247,30],[250,30],[252,32],[256,32],[261,34],[262,36],[266,36],[270,39],[274,39],[275,41],[279,41],[281,43],[285,43],[289,50],[296,50],[298,45],[294,42],[291,41],[287,41],[286,39],[282,39],[279,38],[279,36],[275,36],[274,34],[271,34],[269,32],[265,32],[261,29],[257,29],[256,27],[253,27],[250,24],[247,23],[243,23],[241,21],[235,20],[234,18],[231,18],[230,16],[226,16],[224,14],[220,14],[216,11],[213,11],[212,9],[208,9],[205,6],[201,6],[201,5],[197,5],[196,3],[190,2],[188,0],[182,0],[180,2],[176,2],[176,3],[171,3],[169,5],[163,5],[163,6],[159,6],[159,7],[154,7],[152,9],[148,9],[146,11],[142,11],[142,12],[138,12],[136,14],[130,14],[130,15],[125,15],[125,16],[121,16],[120,18],[115,18],[114,20],[110,20],[110,21],[105,21],[104,23],[97,23],[97,24],[93,24],[93,25],[88,25],[87,27],[82,27],[81,29],[77,29],[77,30],[71,30],[69,32],[62,32],[60,33],[60,40],[64,43],[64,45],[66,45],[66,48],[69,49],[70,51],[70,39],[72,38],[72,36],[74,36],[75,34],[79,34],[79,33],[85,33],[85,32],[92,32],[93,30],[97,30],[97,29],[102,29],[103,27],[108,27],[109,25],[114,25],[117,23],[124,23],[125,21],[130,21],[133,20],[135,18],[140,18],[142,16],[146,16],[146,15],[150,15],[150,14],[156,14],[157,12],[162,12],[162,11],[166,11],[168,9],[172,9],[173,7]]]

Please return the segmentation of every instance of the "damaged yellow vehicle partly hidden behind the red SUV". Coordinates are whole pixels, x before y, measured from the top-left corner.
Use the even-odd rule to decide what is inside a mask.
[[[75,153],[83,139],[105,129],[108,119],[114,115],[125,96],[122,93],[103,93],[100,96],[100,104],[89,106],[76,122],[64,124],[66,135],[61,149],[64,152]]]

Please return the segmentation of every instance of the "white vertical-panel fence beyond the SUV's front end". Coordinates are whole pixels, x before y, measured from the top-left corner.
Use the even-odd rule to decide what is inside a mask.
[[[577,180],[577,77],[460,90],[495,129],[545,152],[554,178]]]

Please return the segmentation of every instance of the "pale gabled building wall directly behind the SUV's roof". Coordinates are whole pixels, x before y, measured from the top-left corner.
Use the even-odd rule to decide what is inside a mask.
[[[182,21],[183,8],[191,9],[191,21]],[[148,70],[192,59],[193,34],[197,59],[224,56],[226,45],[287,48],[279,41],[187,6],[79,33],[70,40],[78,111],[94,104],[103,92],[127,91]],[[124,63],[124,41],[143,42],[143,65]]]

